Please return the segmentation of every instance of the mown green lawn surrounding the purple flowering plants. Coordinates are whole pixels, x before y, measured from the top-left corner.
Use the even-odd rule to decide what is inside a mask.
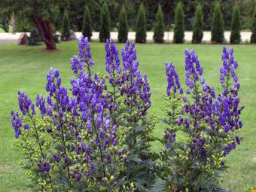
[[[123,44],[117,44],[120,49]],[[184,48],[195,48],[204,69],[204,78],[209,84],[219,85],[221,45],[175,45],[139,44],[138,59],[142,72],[147,72],[151,83],[153,105],[150,112],[160,117],[163,112],[162,95],[166,90],[165,61],[175,63],[176,70],[184,82]],[[236,45],[235,59],[239,62],[238,76],[241,83],[240,96],[245,111],[242,114],[244,127],[242,144],[230,154],[224,186],[233,191],[243,191],[247,185],[256,187],[256,46]],[[104,44],[91,43],[95,71],[105,71]],[[12,109],[17,109],[17,91],[24,90],[35,100],[37,93],[45,93],[46,73],[50,66],[59,69],[62,83],[70,87],[72,77],[69,60],[78,51],[76,41],[58,44],[58,50],[49,52],[44,45],[24,47],[16,44],[0,44],[0,191],[26,191],[29,182],[23,175],[18,161],[21,155],[13,146],[14,131],[11,127]],[[156,136],[163,126],[157,125]],[[157,147],[155,147],[156,149]],[[254,181],[255,180],[255,181]]]

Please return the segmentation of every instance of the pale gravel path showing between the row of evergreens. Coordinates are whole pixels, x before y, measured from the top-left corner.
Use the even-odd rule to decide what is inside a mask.
[[[29,33],[27,33],[29,35]],[[77,37],[81,35],[81,32],[75,32]],[[135,39],[135,32],[129,32],[128,38],[130,40]],[[153,40],[153,32],[147,32],[147,40],[152,41]],[[0,33],[0,43],[5,43],[5,42],[11,42],[11,41],[17,41],[20,36],[20,32],[17,32],[15,34],[12,33],[5,33],[2,32]],[[229,41],[230,39],[230,32],[224,32],[225,39]],[[93,39],[98,39],[99,38],[99,32],[93,32]],[[117,39],[117,32],[111,32],[111,38]],[[164,40],[165,41],[172,41],[173,38],[173,32],[165,32],[164,33]],[[243,42],[249,42],[251,38],[251,32],[241,32],[241,38]],[[191,41],[192,39],[192,32],[185,32],[185,37],[184,39],[186,41]],[[203,32],[203,41],[209,42],[211,41],[211,32]]]

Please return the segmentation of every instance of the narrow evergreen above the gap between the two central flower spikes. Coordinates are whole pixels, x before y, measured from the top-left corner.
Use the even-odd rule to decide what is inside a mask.
[[[122,7],[118,17],[118,42],[125,43],[128,39],[128,24],[126,10]]]

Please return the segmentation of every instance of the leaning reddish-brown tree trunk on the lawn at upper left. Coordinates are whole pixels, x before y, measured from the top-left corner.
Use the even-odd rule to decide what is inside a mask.
[[[54,42],[53,29],[50,20],[38,18],[35,13],[32,14],[32,19],[34,20],[35,26],[38,28],[38,32],[40,32],[41,39],[44,41],[47,50],[55,50],[56,44]]]

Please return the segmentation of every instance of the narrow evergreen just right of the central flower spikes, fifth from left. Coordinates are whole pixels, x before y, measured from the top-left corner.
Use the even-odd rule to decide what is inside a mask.
[[[146,17],[145,17],[145,8],[141,4],[139,6],[139,11],[137,14],[137,23],[136,23],[136,43],[144,44],[147,41],[147,29],[146,29]]]

